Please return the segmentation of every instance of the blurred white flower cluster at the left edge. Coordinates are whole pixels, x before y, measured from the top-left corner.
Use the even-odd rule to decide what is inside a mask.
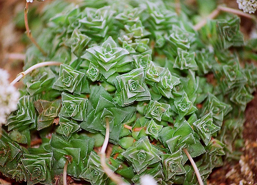
[[[0,68],[0,126],[6,122],[6,116],[16,109],[20,98],[19,91],[8,82],[9,73]]]

